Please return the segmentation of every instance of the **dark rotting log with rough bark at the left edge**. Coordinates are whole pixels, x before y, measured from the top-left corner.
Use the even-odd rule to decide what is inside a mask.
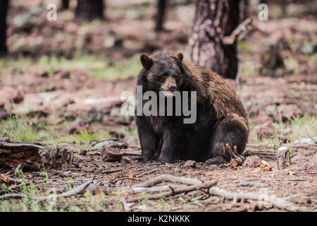
[[[23,165],[23,169],[39,170],[41,157],[39,150],[44,149],[41,145],[28,142],[10,141],[8,138],[0,139],[0,167],[12,169]]]

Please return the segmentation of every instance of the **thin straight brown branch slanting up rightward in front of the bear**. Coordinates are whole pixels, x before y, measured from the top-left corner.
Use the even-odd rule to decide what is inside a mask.
[[[168,175],[168,176],[170,176],[170,175]],[[173,188],[173,189],[170,187],[170,191],[166,191],[166,192],[163,192],[161,194],[156,194],[156,195],[138,196],[138,197],[134,197],[134,198],[129,198],[127,200],[127,202],[128,203],[134,203],[134,202],[137,202],[137,201],[142,201],[144,198],[147,198],[147,199],[159,199],[159,198],[162,198],[162,197],[173,196],[173,195],[181,194],[181,193],[184,193],[184,192],[197,191],[197,190],[200,190],[200,189],[208,189],[211,186],[216,185],[217,183],[218,183],[218,180],[215,179],[215,180],[212,180],[210,182],[204,182],[204,183],[201,183],[201,184],[194,184],[194,185],[191,185],[191,186],[181,186],[181,187],[176,187],[176,188]]]

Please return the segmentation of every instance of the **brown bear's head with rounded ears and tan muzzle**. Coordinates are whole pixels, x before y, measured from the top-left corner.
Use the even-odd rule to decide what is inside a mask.
[[[147,83],[147,88],[155,92],[162,91],[168,97],[173,96],[173,93],[182,85],[183,57],[182,53],[175,56],[168,53],[151,56],[141,54],[140,61],[145,70],[144,81]]]

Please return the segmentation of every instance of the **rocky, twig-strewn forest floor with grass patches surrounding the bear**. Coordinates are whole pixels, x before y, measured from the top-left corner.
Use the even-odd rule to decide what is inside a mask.
[[[265,32],[252,32],[238,43],[239,80],[229,83],[249,115],[250,136],[244,153],[247,161],[237,167],[137,162],[140,146],[135,120],[120,115],[121,93],[135,93],[139,53],[165,49],[185,52],[188,57],[192,4],[173,6],[166,31],[159,34],[153,31],[153,4],[116,1],[108,4],[107,20],[82,24],[70,22],[70,11],[61,12],[56,23],[51,23],[40,8],[36,20],[24,23],[17,17],[21,13],[32,17],[28,4],[36,6],[37,2],[15,1],[9,11],[11,54],[0,59],[0,138],[41,145],[44,158],[60,150],[67,157],[63,159],[60,153],[54,159],[47,157],[37,171],[24,165],[0,167],[0,198],[25,195],[1,199],[0,211],[317,210],[317,142],[313,140],[317,138],[317,53],[313,46],[317,22],[309,13],[300,14],[309,8],[305,4],[297,6],[297,16],[280,18],[280,11],[274,11],[272,19],[258,23]],[[274,51],[269,49],[280,43],[281,49],[270,54]],[[277,57],[282,57],[284,66],[269,68],[266,62]],[[284,169],[278,169],[276,153],[282,146],[289,148],[289,155]],[[123,157],[106,161],[108,147]],[[216,179],[213,187],[229,195],[192,189],[154,198],[132,189],[162,174],[201,182]],[[63,194],[85,183],[73,196],[56,201],[32,198]],[[164,184],[174,189],[178,185]],[[266,194],[288,204],[249,196],[236,201],[232,192]],[[137,196],[139,201],[131,200]]]

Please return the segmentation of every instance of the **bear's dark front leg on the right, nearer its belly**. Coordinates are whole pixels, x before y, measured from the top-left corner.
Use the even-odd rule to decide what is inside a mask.
[[[173,136],[174,135],[174,136]],[[166,130],[163,134],[163,145],[159,160],[166,163],[174,163],[178,160],[180,143],[176,134],[172,134],[170,130]]]

